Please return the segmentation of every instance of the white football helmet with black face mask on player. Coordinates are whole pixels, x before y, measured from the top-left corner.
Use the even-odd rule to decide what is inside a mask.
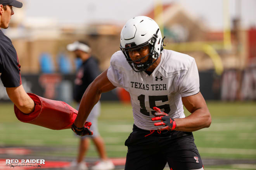
[[[138,16],[128,20],[121,31],[120,49],[125,54],[125,58],[136,72],[147,70],[157,59],[163,50],[163,39],[157,23],[149,17]],[[146,56],[135,61],[150,56],[144,63],[135,63],[128,52],[135,49],[149,46],[150,52]]]

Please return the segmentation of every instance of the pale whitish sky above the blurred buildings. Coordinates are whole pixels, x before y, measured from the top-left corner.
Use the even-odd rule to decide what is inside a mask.
[[[179,3],[211,30],[223,29],[223,0],[160,0]],[[256,0],[227,0],[231,18],[240,16],[242,28],[256,26]],[[111,23],[123,25],[152,9],[156,0],[23,0],[24,19],[52,18],[60,24]]]

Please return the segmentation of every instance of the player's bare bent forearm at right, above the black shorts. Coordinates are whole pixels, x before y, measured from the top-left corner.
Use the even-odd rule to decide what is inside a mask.
[[[197,109],[188,117],[174,119],[176,122],[176,131],[192,132],[202,128],[209,128],[211,125],[211,114],[209,110]]]

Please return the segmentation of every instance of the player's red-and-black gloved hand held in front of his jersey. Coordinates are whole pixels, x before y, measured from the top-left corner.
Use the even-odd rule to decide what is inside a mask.
[[[172,131],[176,128],[176,122],[174,121],[173,118],[170,118],[168,114],[162,112],[159,108],[153,107],[153,109],[156,111],[154,114],[156,117],[151,118],[152,121],[158,121],[161,120],[161,122],[156,122],[154,123],[155,126],[161,126],[161,125],[166,125],[163,128],[158,128],[157,130],[163,131],[163,130],[168,130]]]

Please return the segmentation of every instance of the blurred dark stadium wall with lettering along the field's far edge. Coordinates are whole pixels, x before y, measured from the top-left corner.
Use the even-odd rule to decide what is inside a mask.
[[[74,74],[24,74],[22,85],[26,92],[70,104],[73,102],[74,78]],[[221,76],[214,70],[199,71],[199,78],[200,91],[206,100],[256,100],[256,67],[225,70]],[[0,91],[0,102],[10,101],[2,82]],[[127,94],[116,88],[103,93],[101,100],[127,102]]]

